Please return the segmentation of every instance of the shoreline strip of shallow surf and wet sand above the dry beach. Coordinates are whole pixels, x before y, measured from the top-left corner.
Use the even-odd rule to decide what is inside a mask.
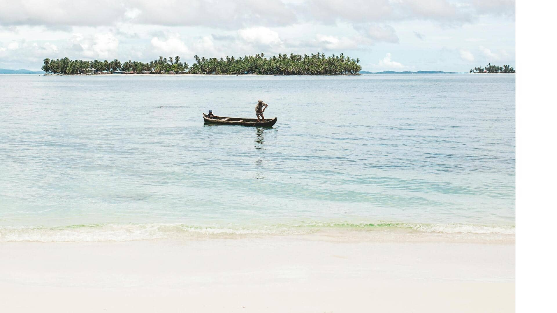
[[[105,223],[0,227],[0,242],[129,242],[174,239],[261,239],[299,236],[338,242],[515,243],[514,225],[378,223],[207,224]]]

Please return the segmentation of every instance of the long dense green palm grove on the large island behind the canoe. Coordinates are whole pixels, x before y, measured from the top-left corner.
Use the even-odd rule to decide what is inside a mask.
[[[127,74],[269,74],[269,75],[340,75],[358,74],[359,58],[353,59],[341,53],[325,57],[317,52],[311,55],[277,55],[266,58],[263,53],[255,56],[234,58],[205,58],[194,56],[195,62],[188,66],[180,57],[165,58],[147,63],[136,61],[82,61],[45,58],[42,70],[46,74],[92,74],[94,72],[125,72]]]

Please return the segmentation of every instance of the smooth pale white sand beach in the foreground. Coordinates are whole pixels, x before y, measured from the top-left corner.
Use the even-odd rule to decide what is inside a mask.
[[[513,236],[514,237],[514,236]],[[512,242],[0,243],[4,312],[513,312]]]

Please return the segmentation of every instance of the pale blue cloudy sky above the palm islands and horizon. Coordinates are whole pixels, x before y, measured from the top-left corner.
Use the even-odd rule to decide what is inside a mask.
[[[345,55],[367,71],[515,66],[514,0],[0,0],[0,68]]]

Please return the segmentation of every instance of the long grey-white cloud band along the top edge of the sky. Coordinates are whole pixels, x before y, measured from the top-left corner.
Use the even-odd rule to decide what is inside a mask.
[[[10,0],[2,3],[0,25],[207,26],[232,29],[288,26],[316,21],[369,23],[426,19],[471,21],[475,14],[514,15],[514,0]]]

